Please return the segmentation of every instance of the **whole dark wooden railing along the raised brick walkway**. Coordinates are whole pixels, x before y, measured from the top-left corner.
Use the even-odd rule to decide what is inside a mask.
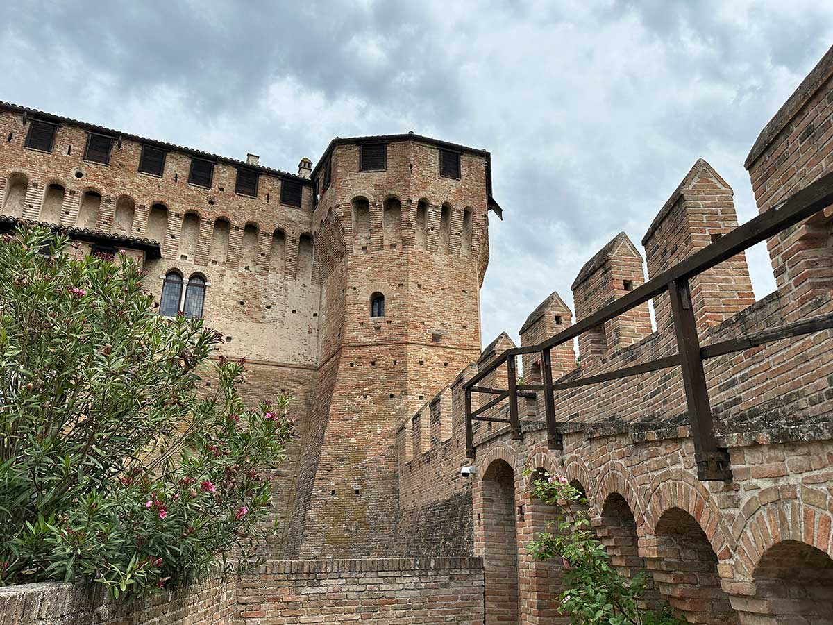
[[[507,349],[464,384],[466,395],[466,456],[475,457],[472,422],[490,421],[508,423],[511,438],[521,438],[521,422],[518,418],[518,397],[528,397],[531,393],[542,392],[546,412],[546,431],[549,448],[561,449],[563,442],[556,423],[555,391],[578,388],[588,384],[605,383],[620,378],[628,378],[640,373],[649,373],[661,369],[680,367],[682,381],[686,390],[688,419],[691,423],[691,436],[694,440],[697,475],[701,480],[723,481],[731,479],[729,454],[726,449],[717,446],[714,423],[711,417],[709,394],[706,388],[706,375],[703,372],[703,360],[715,358],[727,353],[741,352],[758,345],[778,341],[782,338],[801,336],[833,328],[833,314],[821,315],[796,323],[790,323],[765,332],[750,334],[742,338],[733,338],[721,343],[701,347],[700,338],[691,306],[689,280],[717,264],[732,258],[756,243],[761,243],[790,228],[796,223],[811,217],[833,204],[833,173],[828,173],[815,183],[801,189],[776,207],[761,213],[756,218],[726,233],[716,242],[692,254],[681,263],[666,270],[656,278],[651,278],[641,287],[634,289],[615,302],[601,308],[589,317],[581,319],[575,325],[557,333],[536,345]],[[586,378],[577,378],[563,383],[553,383],[550,350],[562,343],[572,341],[581,333],[600,326],[602,323],[626,313],[631,308],[646,303],[661,293],[668,292],[671,297],[671,313],[677,338],[678,352],[673,356],[659,358],[648,363],[641,363],[600,373]],[[541,353],[541,376],[543,384],[518,384],[516,358],[521,354]],[[487,375],[506,363],[507,388],[486,388],[478,383]],[[480,408],[471,410],[471,393],[495,395]],[[506,398],[509,399],[508,418],[481,416]]]

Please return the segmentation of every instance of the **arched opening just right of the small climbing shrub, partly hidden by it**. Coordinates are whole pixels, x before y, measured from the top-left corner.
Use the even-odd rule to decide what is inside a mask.
[[[639,556],[636,537],[636,518],[631,507],[619,493],[611,493],[601,508],[601,525],[596,527],[596,536],[611,557],[611,564],[625,577],[642,573],[646,581],[645,598],[654,602],[659,593],[654,578],[646,570],[645,560]]]

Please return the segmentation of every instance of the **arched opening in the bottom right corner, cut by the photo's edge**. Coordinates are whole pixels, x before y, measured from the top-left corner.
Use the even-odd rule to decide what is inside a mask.
[[[778,542],[766,550],[753,577],[756,625],[833,622],[833,560],[820,549]]]

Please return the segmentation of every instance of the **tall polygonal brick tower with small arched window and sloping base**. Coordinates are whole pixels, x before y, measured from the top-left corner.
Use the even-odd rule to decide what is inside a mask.
[[[287,552],[387,552],[395,433],[480,354],[489,153],[412,133],[337,138],[312,172],[319,370]],[[388,552],[389,553],[389,552]]]

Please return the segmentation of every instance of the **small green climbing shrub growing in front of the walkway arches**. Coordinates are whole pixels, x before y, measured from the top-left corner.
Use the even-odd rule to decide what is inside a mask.
[[[604,545],[591,530],[581,490],[563,476],[545,474],[533,481],[533,495],[556,512],[547,531],[531,541],[529,552],[536,560],[561,560],[567,589],[559,597],[559,609],[571,617],[573,625],[685,623],[667,606],[645,607],[644,572],[626,577],[611,566]]]

